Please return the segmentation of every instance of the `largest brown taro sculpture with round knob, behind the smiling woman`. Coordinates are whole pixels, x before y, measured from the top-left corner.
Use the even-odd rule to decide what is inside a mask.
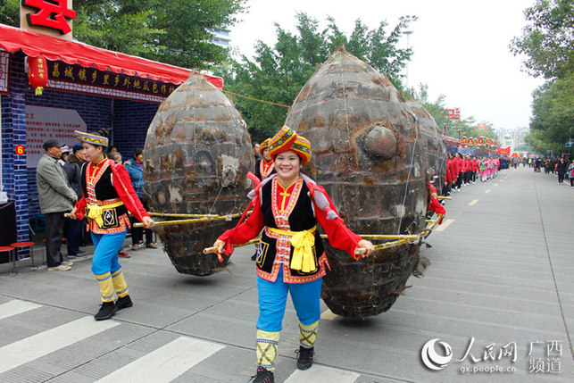
[[[339,49],[299,92],[286,124],[311,141],[303,172],[327,189],[349,228],[397,235],[425,228],[428,155],[419,121],[387,77]],[[321,297],[346,317],[387,311],[419,261],[420,241],[361,261],[325,245],[331,271]]]

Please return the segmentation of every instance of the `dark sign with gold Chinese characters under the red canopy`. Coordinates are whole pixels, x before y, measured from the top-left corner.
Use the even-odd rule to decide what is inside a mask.
[[[48,79],[46,88],[158,104],[178,87],[158,80],[52,61],[48,61]]]

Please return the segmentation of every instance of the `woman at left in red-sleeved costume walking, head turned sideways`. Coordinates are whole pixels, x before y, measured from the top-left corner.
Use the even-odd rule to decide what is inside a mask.
[[[72,218],[83,219],[87,215],[88,229],[96,250],[92,258],[92,272],[100,286],[102,306],[94,318],[103,321],[112,318],[114,312],[133,305],[128,285],[123,278],[118,252],[126,239],[129,228],[128,211],[146,228],[154,226],[154,220],[139,202],[131,185],[128,171],[104,155],[108,138],[80,132],[76,136],[84,146],[87,164],[82,166],[81,186],[84,196],[71,211]],[[114,304],[113,297],[118,296]]]

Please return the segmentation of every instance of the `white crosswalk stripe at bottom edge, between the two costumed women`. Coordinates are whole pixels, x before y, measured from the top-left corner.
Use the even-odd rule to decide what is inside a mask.
[[[170,382],[222,348],[212,342],[179,337],[98,382]]]

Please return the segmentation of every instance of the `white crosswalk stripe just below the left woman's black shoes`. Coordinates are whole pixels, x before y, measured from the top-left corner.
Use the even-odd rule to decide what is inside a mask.
[[[119,325],[117,321],[94,321],[94,317],[88,316],[21,339],[0,348],[0,373]]]

